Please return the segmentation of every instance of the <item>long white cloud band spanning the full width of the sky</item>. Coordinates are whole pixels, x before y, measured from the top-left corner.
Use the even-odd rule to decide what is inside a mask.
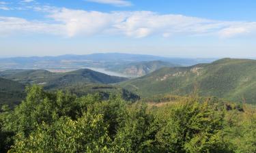
[[[254,35],[256,22],[229,22],[155,12],[87,12],[55,7],[34,7],[47,12],[48,23],[22,18],[0,17],[1,33],[48,33],[75,37],[76,35],[125,35],[127,37],[162,37],[212,35],[235,37]]]

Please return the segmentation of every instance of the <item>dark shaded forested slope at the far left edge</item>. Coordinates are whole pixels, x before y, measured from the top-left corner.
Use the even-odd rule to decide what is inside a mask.
[[[25,97],[25,86],[18,82],[0,78],[0,107],[7,104],[13,107]]]

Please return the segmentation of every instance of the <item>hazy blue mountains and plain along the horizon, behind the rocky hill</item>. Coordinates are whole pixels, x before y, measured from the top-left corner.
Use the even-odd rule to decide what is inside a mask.
[[[174,65],[195,65],[197,63],[210,63],[212,58],[167,58],[144,54],[87,54],[62,56],[32,56],[1,58],[0,67],[4,69],[83,69],[85,67],[109,68],[117,65],[127,65],[142,61],[165,61]],[[0,70],[1,70],[0,69]]]

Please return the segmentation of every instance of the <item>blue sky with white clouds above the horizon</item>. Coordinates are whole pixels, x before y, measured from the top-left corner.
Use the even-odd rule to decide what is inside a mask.
[[[255,0],[0,0],[0,57],[256,58]]]

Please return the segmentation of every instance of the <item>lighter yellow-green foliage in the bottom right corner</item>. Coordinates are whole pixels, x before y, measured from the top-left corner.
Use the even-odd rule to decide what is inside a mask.
[[[231,140],[236,153],[256,152],[256,112],[246,106],[244,112],[232,110],[227,112],[225,139]]]

